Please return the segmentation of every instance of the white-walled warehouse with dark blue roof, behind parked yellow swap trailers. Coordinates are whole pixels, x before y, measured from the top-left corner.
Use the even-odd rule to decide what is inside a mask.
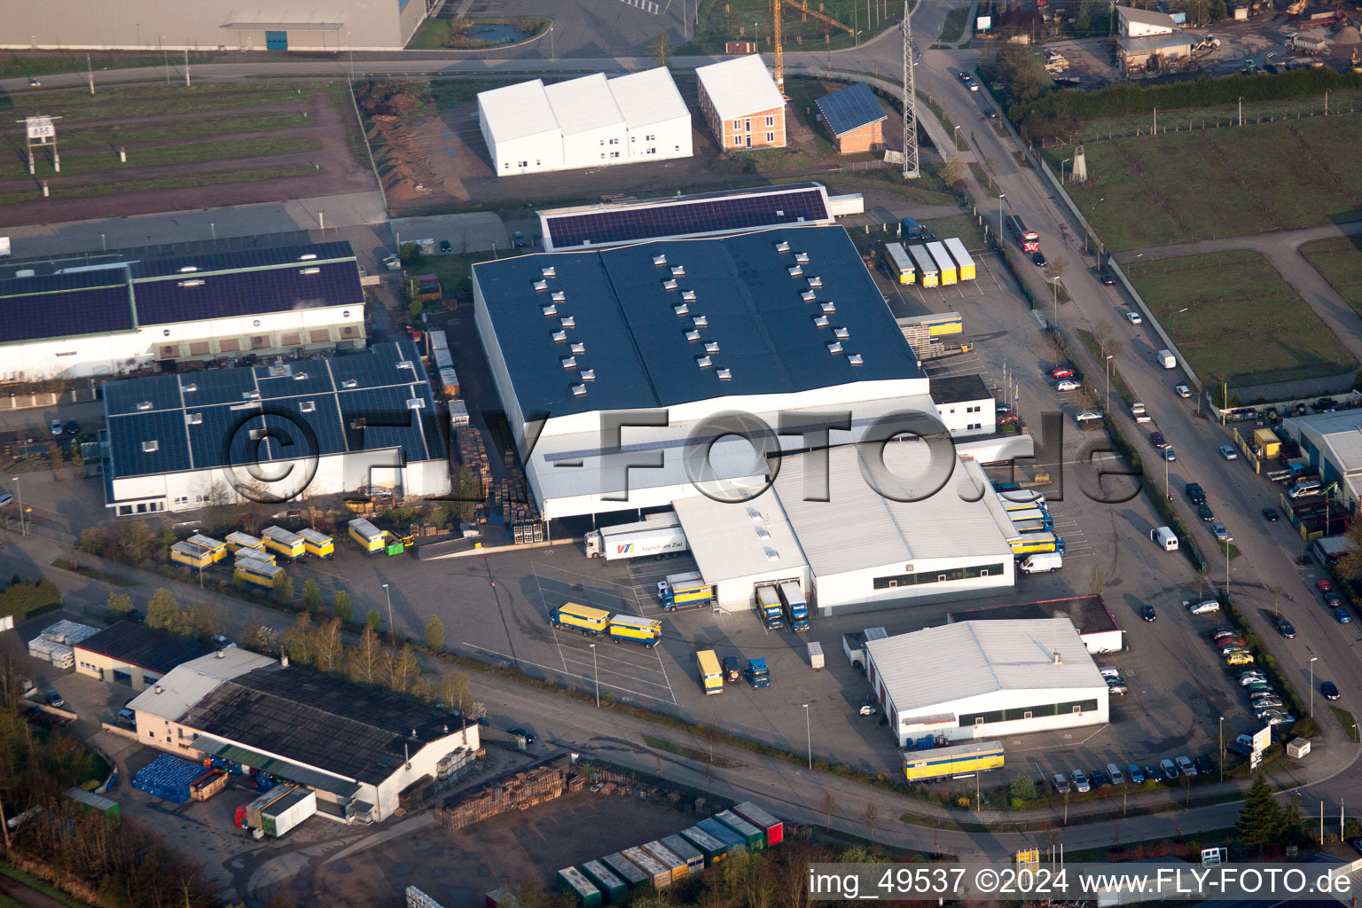
[[[449,490],[409,340],[346,357],[110,381],[106,506],[118,516],[387,489]]]

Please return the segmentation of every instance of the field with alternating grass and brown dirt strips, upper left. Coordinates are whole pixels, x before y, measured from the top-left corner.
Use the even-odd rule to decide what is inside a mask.
[[[41,106],[39,106],[41,105]],[[50,223],[369,192],[343,83],[74,90],[15,99],[14,118],[56,123],[29,174],[20,125],[0,144],[0,222]],[[118,148],[127,162],[118,161]],[[50,197],[42,197],[46,181]],[[82,201],[83,200],[83,201]]]

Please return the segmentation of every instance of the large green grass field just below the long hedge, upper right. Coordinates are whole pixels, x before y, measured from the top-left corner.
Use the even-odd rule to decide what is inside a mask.
[[[1355,221],[1359,127],[1339,116],[1090,142],[1090,180],[1068,191],[1117,250]],[[1046,155],[1058,169],[1072,148]]]

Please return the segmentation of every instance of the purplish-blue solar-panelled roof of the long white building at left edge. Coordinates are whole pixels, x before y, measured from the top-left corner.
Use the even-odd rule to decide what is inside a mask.
[[[117,263],[0,280],[0,343],[364,305],[349,242]]]

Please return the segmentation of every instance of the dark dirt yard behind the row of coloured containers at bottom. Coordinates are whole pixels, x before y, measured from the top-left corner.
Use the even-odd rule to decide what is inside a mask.
[[[417,886],[447,905],[481,904],[500,886],[526,878],[552,888],[554,874],[602,855],[670,836],[699,820],[695,814],[591,792],[507,814],[467,829],[428,828],[323,864],[300,905],[377,908],[400,904]]]

